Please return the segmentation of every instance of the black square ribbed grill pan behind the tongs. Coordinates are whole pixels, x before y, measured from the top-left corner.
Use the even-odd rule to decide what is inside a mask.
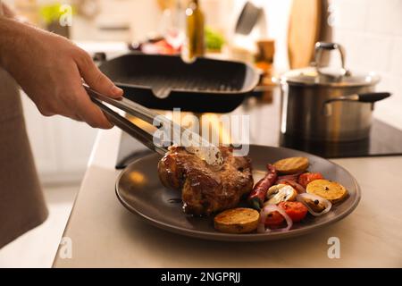
[[[260,75],[247,63],[175,55],[121,55],[100,64],[127,98],[147,108],[228,113],[257,85]]]

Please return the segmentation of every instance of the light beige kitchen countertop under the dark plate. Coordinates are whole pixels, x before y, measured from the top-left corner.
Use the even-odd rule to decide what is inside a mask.
[[[99,131],[63,234],[71,258],[62,247],[54,267],[402,267],[402,156],[332,160],[362,189],[356,210],[339,223],[295,239],[228,243],[159,230],[121,206],[114,193],[120,138],[117,128]],[[339,238],[339,258],[327,255],[331,237]]]

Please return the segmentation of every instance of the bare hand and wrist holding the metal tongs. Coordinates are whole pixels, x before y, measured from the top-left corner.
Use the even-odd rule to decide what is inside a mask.
[[[66,38],[0,17],[0,66],[10,72],[41,114],[61,114],[92,127],[112,128],[82,87],[122,96],[91,57]]]

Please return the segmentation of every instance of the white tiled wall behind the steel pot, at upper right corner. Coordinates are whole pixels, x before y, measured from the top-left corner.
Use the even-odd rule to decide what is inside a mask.
[[[392,97],[376,104],[374,115],[402,128],[402,0],[331,0],[333,38],[345,46],[347,67],[376,71],[377,90]],[[332,56],[331,64],[337,59]]]

